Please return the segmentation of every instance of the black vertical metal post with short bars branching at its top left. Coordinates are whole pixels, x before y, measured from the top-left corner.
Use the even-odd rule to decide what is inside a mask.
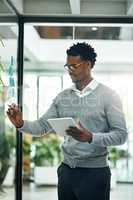
[[[24,45],[24,23],[22,16],[17,11],[15,6],[6,1],[8,7],[14,12],[13,15],[1,15],[0,24],[18,24],[18,42],[17,42],[17,102],[22,110],[22,97],[23,97],[23,45]],[[15,163],[15,200],[22,200],[22,163],[23,163],[23,138],[22,133],[16,130],[16,163]]]

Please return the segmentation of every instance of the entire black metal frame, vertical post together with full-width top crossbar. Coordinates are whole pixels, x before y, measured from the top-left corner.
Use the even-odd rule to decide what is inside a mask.
[[[79,23],[79,24],[133,24],[133,16],[72,16],[72,15],[21,15],[12,1],[6,0],[15,16],[0,16],[0,23],[18,24],[17,48],[17,101],[23,106],[23,55],[24,55],[24,25],[25,23]],[[16,131],[16,169],[15,169],[15,200],[22,200],[22,133]]]

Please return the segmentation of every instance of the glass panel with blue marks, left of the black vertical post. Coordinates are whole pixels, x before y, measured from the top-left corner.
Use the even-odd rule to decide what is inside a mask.
[[[17,103],[17,24],[0,23],[0,198],[15,198],[16,130],[7,118],[8,105]]]

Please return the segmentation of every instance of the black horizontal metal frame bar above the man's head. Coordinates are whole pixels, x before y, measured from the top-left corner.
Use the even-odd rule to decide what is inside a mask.
[[[108,23],[133,24],[133,16],[23,15],[24,23]]]

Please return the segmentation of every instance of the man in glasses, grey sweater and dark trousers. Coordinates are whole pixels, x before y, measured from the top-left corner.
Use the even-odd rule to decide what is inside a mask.
[[[72,117],[76,127],[68,127],[62,145],[63,163],[58,168],[59,200],[109,200],[110,169],[107,146],[123,144],[127,137],[118,95],[91,76],[96,61],[94,49],[77,43],[67,50],[65,68],[74,83],[55,98],[37,121],[23,121],[16,105],[7,115],[20,130],[33,135],[48,132],[47,119]]]

